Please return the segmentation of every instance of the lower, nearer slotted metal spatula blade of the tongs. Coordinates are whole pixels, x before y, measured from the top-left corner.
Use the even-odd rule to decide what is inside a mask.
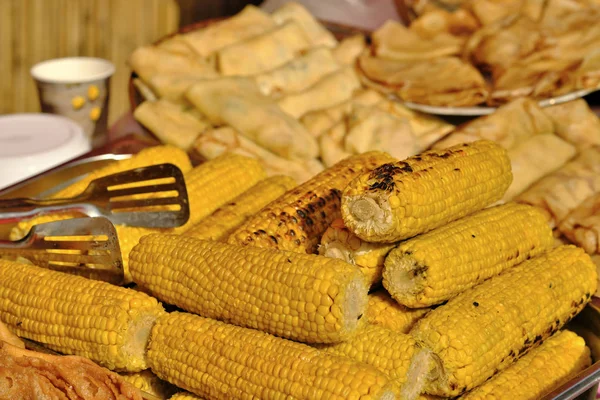
[[[123,260],[117,231],[106,218],[72,218],[34,225],[18,241],[0,241],[0,256],[120,285]]]

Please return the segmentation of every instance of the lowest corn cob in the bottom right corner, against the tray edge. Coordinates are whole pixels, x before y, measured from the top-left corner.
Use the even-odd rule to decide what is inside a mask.
[[[558,332],[462,398],[539,399],[591,363],[590,349],[582,338],[571,331]]]

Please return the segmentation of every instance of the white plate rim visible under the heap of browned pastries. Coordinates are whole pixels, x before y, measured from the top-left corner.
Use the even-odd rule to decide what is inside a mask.
[[[566,103],[575,99],[579,99],[583,96],[587,96],[590,93],[596,92],[600,90],[598,88],[592,89],[581,89],[575,92],[563,94],[562,96],[551,97],[549,99],[544,99],[539,101],[540,107],[548,107],[556,104]],[[427,114],[435,114],[435,115],[454,115],[454,116],[464,116],[464,117],[476,117],[480,115],[488,115],[496,111],[496,107],[484,107],[484,106],[475,106],[475,107],[441,107],[441,106],[429,106],[427,104],[418,104],[412,103],[410,101],[402,101],[395,94],[391,94],[390,98],[392,100],[398,101],[405,105],[406,107],[415,110],[421,111]]]

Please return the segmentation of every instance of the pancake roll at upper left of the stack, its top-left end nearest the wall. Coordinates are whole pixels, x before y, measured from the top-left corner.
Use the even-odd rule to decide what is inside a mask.
[[[204,29],[183,35],[183,40],[199,55],[208,56],[231,44],[260,35],[276,26],[271,16],[260,8],[247,5],[236,15]]]

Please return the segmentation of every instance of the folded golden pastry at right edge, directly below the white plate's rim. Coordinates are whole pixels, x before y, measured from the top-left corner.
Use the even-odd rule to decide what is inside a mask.
[[[600,118],[583,99],[543,108],[556,134],[578,148],[600,145]]]

